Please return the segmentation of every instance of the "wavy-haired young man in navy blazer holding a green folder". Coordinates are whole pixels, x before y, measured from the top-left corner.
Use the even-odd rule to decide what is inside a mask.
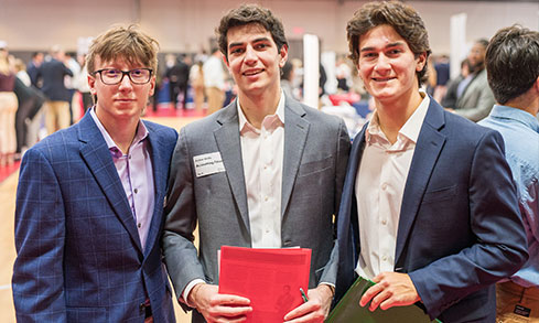
[[[367,3],[347,33],[376,111],[349,157],[336,297],[362,276],[376,284],[360,306],[420,303],[444,323],[494,322],[493,284],[528,257],[500,134],[420,91],[431,51],[411,7]]]

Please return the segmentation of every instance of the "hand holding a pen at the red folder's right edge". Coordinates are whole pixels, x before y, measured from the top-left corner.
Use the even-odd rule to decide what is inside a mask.
[[[324,322],[332,304],[332,289],[326,284],[320,284],[317,288],[308,291],[308,298],[306,303],[284,315],[287,323]]]

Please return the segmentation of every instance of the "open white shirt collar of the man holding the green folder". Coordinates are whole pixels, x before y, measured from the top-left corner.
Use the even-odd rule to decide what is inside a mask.
[[[423,99],[419,104],[416,111],[413,111],[410,118],[408,118],[408,120],[402,126],[402,128],[400,128],[398,134],[399,137],[408,138],[413,143],[418,142],[419,132],[421,131],[421,126],[423,125],[423,120],[424,117],[427,116],[427,110],[429,109],[429,105],[430,105],[429,96],[423,91],[420,91],[420,95],[423,97]],[[365,131],[365,141],[367,143],[370,143],[373,136],[378,136],[386,139],[386,136],[381,131],[378,114],[376,110],[373,114],[373,118],[367,127],[367,130]]]

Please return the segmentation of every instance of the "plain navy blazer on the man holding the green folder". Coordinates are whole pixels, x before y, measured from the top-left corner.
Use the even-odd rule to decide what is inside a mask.
[[[354,140],[338,213],[337,300],[356,278],[355,182],[365,130]],[[431,319],[494,322],[493,283],[527,258],[502,136],[431,98],[405,186],[395,271],[410,276]]]

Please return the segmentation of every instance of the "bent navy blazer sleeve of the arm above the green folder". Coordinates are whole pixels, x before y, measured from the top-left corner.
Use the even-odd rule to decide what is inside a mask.
[[[409,272],[431,317],[467,294],[511,276],[528,258],[504,141],[496,131],[486,132],[476,146],[468,200],[475,244]]]

